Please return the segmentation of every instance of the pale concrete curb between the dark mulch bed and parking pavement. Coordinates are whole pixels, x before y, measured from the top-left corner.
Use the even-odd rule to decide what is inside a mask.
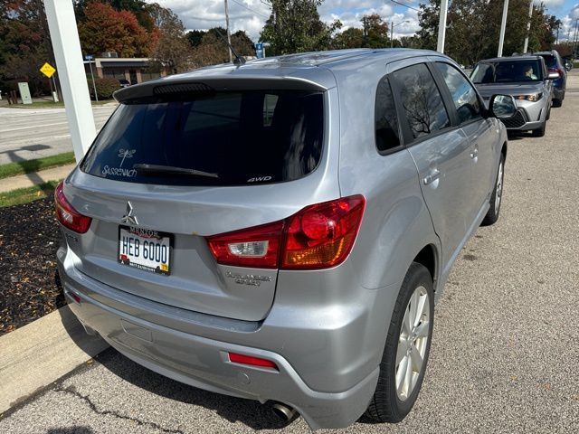
[[[0,414],[109,347],[61,307],[0,337]]]

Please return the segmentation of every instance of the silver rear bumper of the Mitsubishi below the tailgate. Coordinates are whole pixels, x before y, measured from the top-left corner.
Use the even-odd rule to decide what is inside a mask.
[[[59,250],[59,272],[72,312],[87,331],[97,332],[121,354],[152,371],[210,392],[261,402],[283,402],[298,410],[312,429],[341,428],[353,423],[364,413],[375,391],[377,364],[345,390],[316,391],[304,382],[282,351],[263,349],[259,337],[264,328],[262,323],[192,312],[187,316],[183,309],[103,285],[71,266],[65,256],[65,250]],[[76,302],[71,293],[80,297],[81,302]],[[161,311],[166,319],[163,325],[157,320]],[[186,323],[187,331],[182,325],[167,326],[171,321]],[[223,340],[205,333],[209,328],[215,331],[213,335],[219,335],[222,330]],[[293,339],[298,342],[303,339],[307,346],[308,335],[300,336],[299,330],[303,330],[303,325],[286,331],[294,334]],[[285,334],[278,331],[282,339]],[[331,346],[335,344],[332,340],[335,341],[327,337],[327,354],[316,354],[318,359],[331,356]],[[277,364],[279,371],[232,363],[229,352],[269,359]],[[335,374],[338,377],[344,373]]]

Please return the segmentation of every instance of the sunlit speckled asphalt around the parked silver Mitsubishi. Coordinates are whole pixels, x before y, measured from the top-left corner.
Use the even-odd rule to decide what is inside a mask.
[[[546,137],[509,142],[495,226],[480,228],[436,307],[422,392],[398,425],[343,433],[579,430],[579,74]],[[25,373],[23,373],[25,375]],[[265,406],[196,390],[108,350],[0,420],[14,433],[307,433]]]

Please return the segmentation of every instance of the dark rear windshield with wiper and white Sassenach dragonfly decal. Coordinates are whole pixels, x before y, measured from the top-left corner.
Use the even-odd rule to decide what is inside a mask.
[[[319,163],[323,94],[251,90],[119,105],[81,164],[141,184],[243,185],[299,179]]]

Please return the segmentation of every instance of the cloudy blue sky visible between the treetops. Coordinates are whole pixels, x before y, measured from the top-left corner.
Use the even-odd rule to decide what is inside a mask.
[[[223,0],[147,0],[171,8],[188,30],[225,27]],[[394,37],[409,36],[419,30],[417,9],[427,0],[326,0],[318,8],[321,19],[331,23],[339,19],[347,27],[361,27],[365,14],[380,14],[389,24],[394,22]],[[450,0],[451,1],[451,0]],[[575,19],[579,18],[579,0],[543,0],[547,14],[563,21],[559,39],[573,40]],[[538,2],[536,2],[538,3]],[[271,13],[267,0],[229,0],[229,19],[232,31],[244,30],[257,42],[265,20]]]

